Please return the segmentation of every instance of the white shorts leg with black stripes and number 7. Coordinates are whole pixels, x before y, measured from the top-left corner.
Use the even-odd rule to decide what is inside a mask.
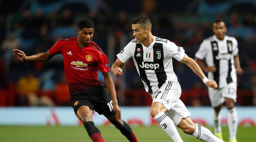
[[[180,95],[180,84],[178,82],[167,81],[156,93],[151,94],[152,103],[160,102],[167,110],[170,110],[177,103]]]

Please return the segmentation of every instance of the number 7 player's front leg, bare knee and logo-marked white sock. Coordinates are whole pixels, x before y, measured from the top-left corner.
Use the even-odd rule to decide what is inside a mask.
[[[167,133],[174,142],[183,142],[174,122],[165,114],[166,111],[168,110],[160,102],[153,102],[150,107],[151,116],[160,124],[165,133]]]

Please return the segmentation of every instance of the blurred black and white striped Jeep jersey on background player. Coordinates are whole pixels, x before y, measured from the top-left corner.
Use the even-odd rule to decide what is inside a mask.
[[[195,54],[198,59],[205,59],[207,66],[215,64],[216,72],[208,72],[208,78],[215,80],[219,88],[237,81],[234,65],[237,46],[235,37],[225,36],[224,40],[219,40],[214,35],[205,39]]]

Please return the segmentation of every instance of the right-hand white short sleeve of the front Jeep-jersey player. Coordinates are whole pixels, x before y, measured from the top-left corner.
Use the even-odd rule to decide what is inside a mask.
[[[179,47],[175,43],[170,41],[168,41],[167,43],[167,52],[169,57],[173,57],[178,61],[181,61],[185,54],[185,50],[183,49],[183,47]]]

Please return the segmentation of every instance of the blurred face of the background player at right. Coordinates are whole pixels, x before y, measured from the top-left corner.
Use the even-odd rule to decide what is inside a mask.
[[[224,22],[216,22],[213,24],[212,31],[219,40],[223,40],[226,35],[227,28]]]

